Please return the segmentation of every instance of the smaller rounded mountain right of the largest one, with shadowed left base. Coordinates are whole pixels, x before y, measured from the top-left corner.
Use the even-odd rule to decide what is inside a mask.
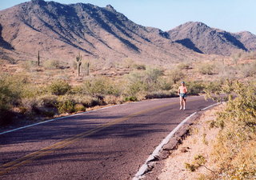
[[[174,42],[203,54],[230,55],[246,46],[233,34],[206,26],[202,22],[186,22],[168,31]]]

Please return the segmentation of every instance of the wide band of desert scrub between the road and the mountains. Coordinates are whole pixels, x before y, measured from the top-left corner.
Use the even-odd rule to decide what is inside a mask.
[[[102,65],[96,60],[82,60],[81,55],[74,58],[73,65],[54,59],[40,60],[40,66],[38,59],[16,65],[2,61],[2,68],[7,69],[2,69],[0,77],[0,122],[3,126],[17,119],[52,118],[94,106],[176,97],[183,80],[190,95],[218,91],[225,79],[254,79],[256,62],[250,59],[248,63],[248,56],[239,55],[239,63],[232,58],[186,61],[170,68],[145,65],[130,58]],[[14,70],[8,71],[8,66]]]

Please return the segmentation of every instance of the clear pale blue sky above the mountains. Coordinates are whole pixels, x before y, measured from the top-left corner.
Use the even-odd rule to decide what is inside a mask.
[[[170,30],[182,23],[204,22],[206,25],[256,34],[256,0],[54,0],[64,4],[90,3],[114,6],[118,12],[142,25]],[[26,2],[1,0],[0,10]]]

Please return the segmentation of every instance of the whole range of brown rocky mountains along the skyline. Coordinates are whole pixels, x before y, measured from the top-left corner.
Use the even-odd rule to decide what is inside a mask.
[[[240,42],[238,36],[202,22],[187,22],[164,32],[140,26],[110,5],[32,0],[0,11],[0,56],[22,60],[36,57],[40,50],[42,59],[73,61],[81,53],[102,61],[132,58],[166,64],[247,50],[249,45],[243,43],[250,38]],[[254,41],[250,43],[254,46]]]

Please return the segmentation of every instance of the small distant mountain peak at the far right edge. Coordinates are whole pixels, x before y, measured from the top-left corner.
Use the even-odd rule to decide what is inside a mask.
[[[233,35],[246,46],[247,50],[256,50],[256,35],[251,34],[249,31],[242,31]]]

